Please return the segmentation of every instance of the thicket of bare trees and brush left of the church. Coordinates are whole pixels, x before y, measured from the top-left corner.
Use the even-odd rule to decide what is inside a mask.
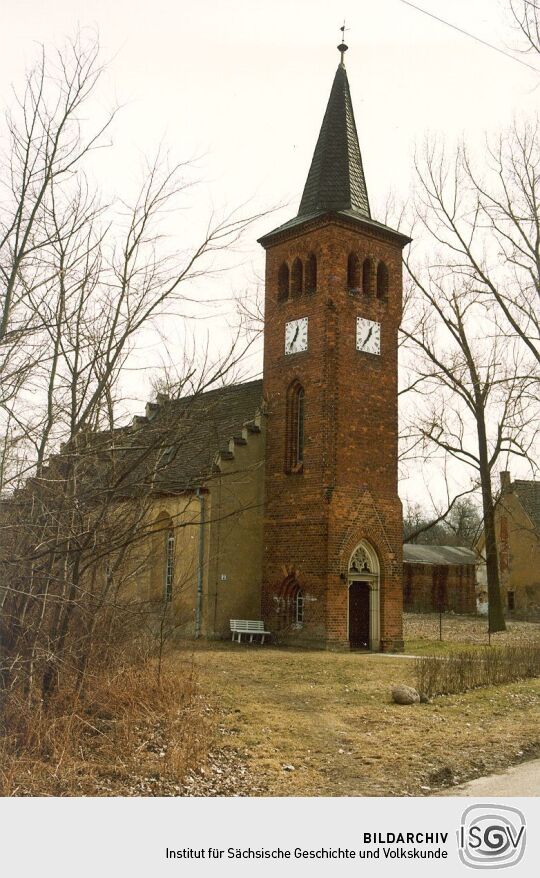
[[[89,132],[79,121],[101,72],[93,41],[53,61],[43,51],[8,116],[0,173],[1,675],[41,704],[61,680],[78,697],[91,660],[152,609],[125,586],[144,563],[160,473],[190,453],[190,430],[166,408],[120,426],[122,370],[158,318],[188,312],[188,285],[253,219],[211,218],[194,244],[167,248],[164,218],[190,181],[160,155],[131,203],[103,204],[86,160],[114,112]],[[184,408],[230,379],[249,344],[240,328],[221,353],[180,354]]]

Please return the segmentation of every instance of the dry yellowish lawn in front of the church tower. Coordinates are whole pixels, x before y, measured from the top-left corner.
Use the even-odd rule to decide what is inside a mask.
[[[538,680],[399,707],[403,658],[215,644],[175,661],[192,654],[254,779],[241,795],[430,795],[540,753]]]

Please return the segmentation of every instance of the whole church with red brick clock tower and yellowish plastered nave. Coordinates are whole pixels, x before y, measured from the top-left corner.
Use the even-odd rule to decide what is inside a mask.
[[[158,396],[187,437],[152,491],[139,596],[185,636],[403,649],[397,492],[405,235],[372,219],[344,56],[297,216],[266,252],[262,381]]]

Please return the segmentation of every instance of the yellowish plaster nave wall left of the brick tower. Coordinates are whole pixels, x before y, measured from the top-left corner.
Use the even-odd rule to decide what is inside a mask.
[[[261,618],[264,431],[244,429],[219,460],[219,471],[194,494],[161,496],[146,515],[148,536],[126,554],[129,597],[148,607],[167,637],[196,635],[197,586],[204,511],[200,634],[230,636],[230,619]],[[122,514],[122,512],[120,512]],[[124,510],[128,514],[128,510]],[[165,597],[166,541],[174,532],[173,598]],[[126,592],[124,592],[125,594]]]

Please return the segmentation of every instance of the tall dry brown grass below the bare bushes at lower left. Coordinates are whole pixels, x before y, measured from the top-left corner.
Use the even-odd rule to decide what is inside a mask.
[[[0,795],[175,795],[206,757],[211,726],[193,669],[153,663],[91,679],[77,705],[60,691],[47,712],[5,705]]]

